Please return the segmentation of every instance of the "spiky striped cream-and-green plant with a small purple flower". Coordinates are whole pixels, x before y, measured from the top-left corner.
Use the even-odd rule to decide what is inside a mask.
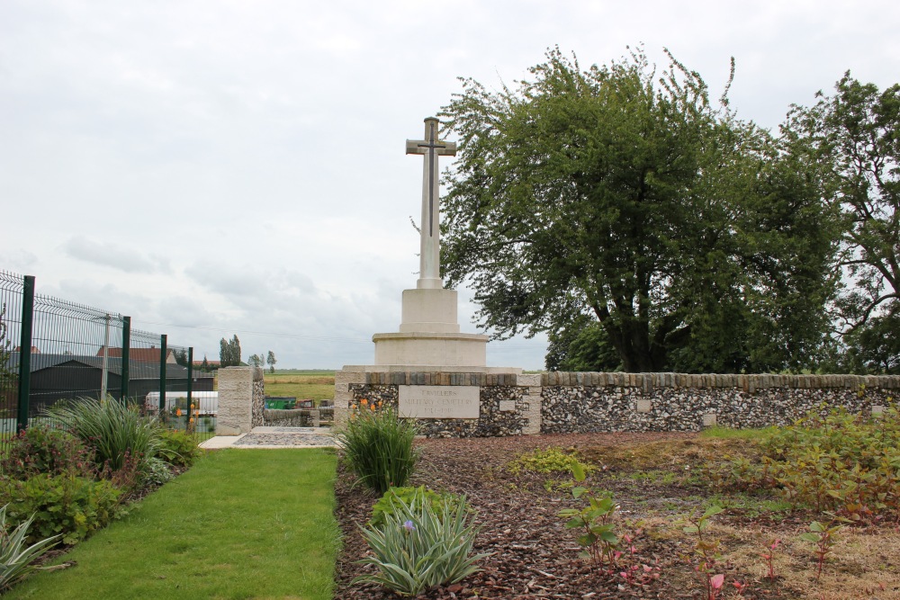
[[[417,494],[418,495],[418,494]],[[478,570],[475,562],[488,556],[470,556],[477,533],[466,524],[469,507],[460,497],[455,507],[444,504],[437,512],[424,493],[407,503],[400,498],[378,527],[363,529],[374,556],[360,564],[378,571],[356,578],[387,587],[405,596],[418,596],[432,587],[456,583]]]

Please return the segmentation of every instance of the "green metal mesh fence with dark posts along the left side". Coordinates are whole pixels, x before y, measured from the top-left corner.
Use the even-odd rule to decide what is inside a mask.
[[[192,355],[165,335],[131,329],[129,317],[36,294],[33,277],[0,271],[0,446],[46,408],[79,398],[132,402],[210,437],[214,376],[195,369]]]

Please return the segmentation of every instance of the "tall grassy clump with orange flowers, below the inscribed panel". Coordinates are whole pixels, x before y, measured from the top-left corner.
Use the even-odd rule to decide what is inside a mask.
[[[419,458],[412,447],[416,425],[390,408],[368,408],[365,400],[336,434],[344,460],[360,481],[379,494],[410,479]]]

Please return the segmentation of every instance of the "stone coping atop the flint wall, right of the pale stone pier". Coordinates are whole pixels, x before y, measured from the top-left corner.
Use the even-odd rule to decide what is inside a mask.
[[[613,386],[640,388],[733,388],[752,393],[770,388],[825,390],[831,388],[900,389],[900,375],[775,375],[775,374],[688,374],[625,372],[542,372],[541,385]]]

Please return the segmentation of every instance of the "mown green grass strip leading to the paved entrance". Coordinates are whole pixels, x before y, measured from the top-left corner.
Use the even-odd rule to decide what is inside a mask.
[[[6,598],[332,595],[340,545],[330,450],[211,452]]]

